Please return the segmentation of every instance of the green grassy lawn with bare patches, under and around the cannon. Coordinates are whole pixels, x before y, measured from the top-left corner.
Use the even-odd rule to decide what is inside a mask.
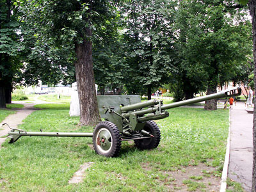
[[[68,104],[36,107],[44,110],[29,115],[20,129],[93,131],[93,127],[77,126],[79,118],[68,115]],[[168,118],[156,121],[161,129],[159,147],[141,151],[124,141],[120,156],[115,158],[97,155],[92,138],[22,137],[14,145],[6,140],[0,150],[0,191],[210,191],[208,178],[220,181],[228,110],[168,111]],[[83,182],[68,184],[79,166],[87,162],[93,164]],[[202,174],[179,179],[179,175],[199,167],[203,167]],[[206,170],[208,167],[212,171]],[[205,179],[208,181],[203,182]]]

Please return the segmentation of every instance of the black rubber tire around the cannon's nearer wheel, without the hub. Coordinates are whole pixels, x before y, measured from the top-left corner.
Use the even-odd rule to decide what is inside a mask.
[[[106,128],[111,134],[112,137],[112,146],[109,152],[102,152],[97,148],[97,132],[99,132],[100,129]],[[112,122],[100,122],[96,125],[94,131],[93,131],[93,148],[97,154],[105,157],[116,157],[118,156],[118,153],[121,148],[121,138],[120,138],[120,132],[115,124]]]

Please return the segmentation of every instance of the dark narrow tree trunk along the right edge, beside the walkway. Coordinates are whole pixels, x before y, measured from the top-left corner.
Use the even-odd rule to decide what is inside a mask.
[[[253,31],[253,64],[254,64],[254,82],[256,79],[256,1],[250,0],[248,2],[250,14],[252,16],[252,31]],[[254,84],[256,90],[256,83]],[[253,163],[252,163],[252,191],[256,192],[256,112],[255,100],[253,110]]]

